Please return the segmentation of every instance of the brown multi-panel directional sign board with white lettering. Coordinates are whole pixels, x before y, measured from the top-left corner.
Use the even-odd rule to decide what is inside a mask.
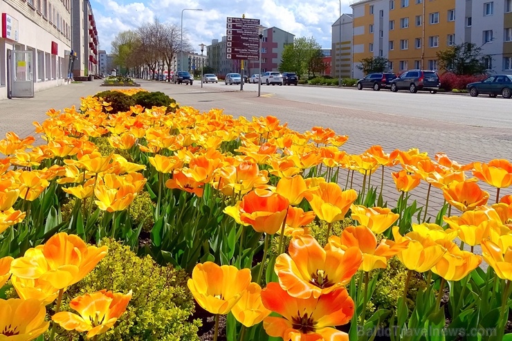
[[[232,18],[226,22],[226,58],[259,59],[259,19]]]

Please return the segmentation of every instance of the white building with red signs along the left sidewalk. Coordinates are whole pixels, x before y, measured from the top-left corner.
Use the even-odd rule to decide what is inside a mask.
[[[64,84],[71,0],[3,0],[0,13],[0,100]]]

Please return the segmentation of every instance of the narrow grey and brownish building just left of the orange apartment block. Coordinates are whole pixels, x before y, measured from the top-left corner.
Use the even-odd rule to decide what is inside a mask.
[[[353,15],[342,14],[332,24],[331,75],[333,78],[351,78]]]

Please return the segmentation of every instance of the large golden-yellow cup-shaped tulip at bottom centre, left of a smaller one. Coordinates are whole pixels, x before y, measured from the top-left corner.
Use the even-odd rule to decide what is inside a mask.
[[[218,266],[207,261],[192,270],[188,288],[196,302],[212,314],[226,315],[237,304],[250,284],[250,269]]]

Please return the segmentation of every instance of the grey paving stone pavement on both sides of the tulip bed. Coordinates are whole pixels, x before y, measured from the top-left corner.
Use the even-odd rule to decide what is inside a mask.
[[[450,158],[459,163],[473,161],[487,162],[493,158],[511,158],[512,131],[509,129],[472,127],[457,125],[420,118],[404,118],[392,114],[347,109],[339,107],[309,104],[275,98],[265,93],[257,98],[253,90],[223,91],[199,86],[179,86],[159,82],[140,81],[144,89],[163,91],[175,98],[181,105],[195,107],[201,111],[212,108],[224,109],[224,112],[235,117],[273,115],[288,122],[289,127],[297,131],[306,131],[313,126],[330,127],[339,134],[346,134],[349,140],[342,146],[347,153],[360,154],[372,145],[382,145],[387,152],[399,148],[407,150],[419,147],[433,157],[437,151],[444,151]],[[23,98],[0,102],[0,136],[8,131],[15,131],[19,136],[33,135],[33,122],[46,119],[46,111],[50,108],[64,109],[71,105],[79,105],[80,98],[103,91],[100,81],[68,84],[58,88],[41,91],[35,98]],[[111,88],[108,88],[111,89]],[[234,89],[234,88],[233,88]],[[340,89],[340,91],[350,91]],[[467,123],[467,122],[461,122]],[[399,192],[396,191],[391,171],[386,169],[383,196],[394,207]],[[372,177],[374,185],[380,184],[381,171]],[[346,172],[340,174],[340,185],[344,186]],[[360,190],[362,176],[354,176],[354,188]],[[482,184],[482,183],[481,183]],[[482,184],[490,193],[493,202],[495,189]],[[421,184],[411,192],[411,200],[421,205],[425,202],[428,186]],[[511,190],[502,190],[502,195],[512,194]],[[441,191],[432,187],[429,212],[435,214],[444,201]],[[455,213],[453,211],[452,213]]]

